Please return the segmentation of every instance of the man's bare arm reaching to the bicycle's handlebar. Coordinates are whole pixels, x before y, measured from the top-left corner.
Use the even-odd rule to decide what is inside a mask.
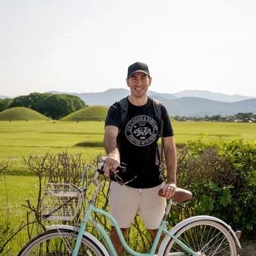
[[[120,154],[116,145],[116,138],[118,136],[118,127],[114,125],[107,125],[105,127],[104,147],[108,157],[104,163],[104,173],[108,177],[109,169],[116,170],[120,165]]]

